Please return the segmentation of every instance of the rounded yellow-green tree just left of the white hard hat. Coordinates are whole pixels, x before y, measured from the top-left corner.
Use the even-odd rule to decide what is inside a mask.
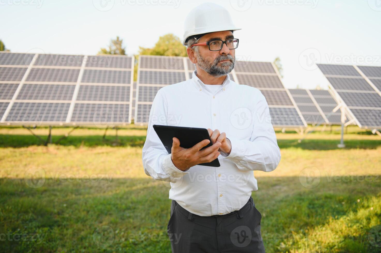
[[[165,56],[187,56],[186,47],[182,45],[179,37],[168,33],[160,36],[153,48],[139,46],[139,54],[165,55]]]

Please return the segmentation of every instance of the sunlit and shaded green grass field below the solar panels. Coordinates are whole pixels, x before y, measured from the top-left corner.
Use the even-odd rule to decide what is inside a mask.
[[[53,128],[53,142],[69,130]],[[279,167],[254,172],[266,252],[380,252],[381,138],[349,127],[338,149],[333,130],[302,143],[277,131]],[[43,146],[26,129],[0,128],[2,252],[171,252],[170,186],[144,173],[146,130],[118,130],[117,146],[115,130],[103,133],[76,129]]]

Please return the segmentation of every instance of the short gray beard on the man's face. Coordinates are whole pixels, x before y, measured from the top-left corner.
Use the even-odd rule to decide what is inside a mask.
[[[205,60],[198,52],[196,52],[196,56],[197,64],[199,65],[199,67],[211,76],[220,77],[227,75],[234,68],[235,57],[233,57],[231,54],[220,55],[213,61],[213,63],[210,63],[207,60]],[[221,64],[221,67],[219,67],[217,64],[221,60],[231,60],[231,62],[223,62]],[[226,68],[227,66],[228,68]]]

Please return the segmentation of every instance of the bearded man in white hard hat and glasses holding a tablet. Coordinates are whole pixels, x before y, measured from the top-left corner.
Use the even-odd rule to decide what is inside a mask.
[[[219,5],[192,10],[183,43],[196,70],[192,79],[161,88],[150,110],[142,162],[147,175],[170,182],[167,229],[175,253],[264,252],[253,170],[274,170],[280,151],[264,96],[228,75],[235,30]],[[202,149],[209,142],[203,140],[186,149],[174,137],[167,154],[153,124],[207,128],[213,145]],[[198,165],[216,158],[220,167]]]

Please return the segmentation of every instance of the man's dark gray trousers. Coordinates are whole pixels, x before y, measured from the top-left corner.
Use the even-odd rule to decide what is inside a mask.
[[[253,198],[225,215],[199,216],[172,200],[168,237],[172,253],[265,252],[261,218]]]

